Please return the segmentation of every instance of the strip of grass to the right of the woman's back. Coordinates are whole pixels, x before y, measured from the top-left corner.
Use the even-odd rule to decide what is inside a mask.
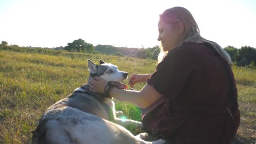
[[[241,114],[237,131],[238,144],[256,142],[256,69],[233,67],[237,83],[238,103]]]

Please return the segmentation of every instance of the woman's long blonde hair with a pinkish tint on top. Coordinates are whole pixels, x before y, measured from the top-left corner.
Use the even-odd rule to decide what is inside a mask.
[[[206,40],[205,38],[200,36],[200,29],[192,16],[192,14],[183,7],[173,7],[165,10],[162,14],[160,14],[160,21],[165,21],[166,23],[171,23],[173,21],[179,21],[183,23],[183,32],[180,36],[180,41],[176,43],[175,48],[182,45],[186,42],[192,42],[192,43],[209,43],[213,46],[214,49],[224,58],[228,61],[229,64],[232,64],[232,60],[229,56],[229,54],[224,51],[223,48],[221,48],[220,45],[217,43]],[[161,48],[161,51],[158,55],[158,62],[162,61],[163,57],[165,56],[165,53],[168,51],[163,51],[163,48]]]

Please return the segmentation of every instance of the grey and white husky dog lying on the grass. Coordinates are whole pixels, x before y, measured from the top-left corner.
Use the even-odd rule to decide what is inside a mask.
[[[88,59],[90,76],[99,76],[113,82],[117,88],[124,88],[120,81],[127,79],[128,73],[121,72],[117,66],[100,65]],[[117,83],[119,82],[119,83]],[[134,120],[121,120],[115,117],[115,104],[105,94],[90,91],[87,84],[57,101],[41,117],[33,132],[32,144],[163,144],[165,141],[144,141],[147,133],[137,136],[122,126],[141,127]]]

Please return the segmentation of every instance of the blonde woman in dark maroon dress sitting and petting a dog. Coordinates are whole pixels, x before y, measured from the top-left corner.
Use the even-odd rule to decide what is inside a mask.
[[[147,81],[144,88],[111,88],[109,94],[141,107],[144,128],[161,138],[181,144],[230,143],[240,123],[230,56],[200,36],[195,19],[185,8],[165,10],[158,30],[162,52],[155,72],[130,77],[131,86]],[[104,80],[95,77],[90,83],[95,91],[104,93]]]

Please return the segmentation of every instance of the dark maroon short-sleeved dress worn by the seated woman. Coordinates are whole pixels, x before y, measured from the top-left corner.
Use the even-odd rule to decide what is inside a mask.
[[[163,98],[142,109],[147,132],[188,144],[228,144],[240,112],[231,67],[208,43],[169,51],[147,79]]]

